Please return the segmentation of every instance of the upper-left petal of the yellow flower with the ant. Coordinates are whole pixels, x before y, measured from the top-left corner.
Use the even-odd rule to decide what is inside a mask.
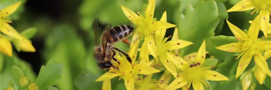
[[[175,64],[179,69],[182,71],[186,71],[186,68],[188,67],[188,63],[184,61],[181,57],[178,57],[172,53],[166,53],[168,56],[168,60],[172,61],[173,64]]]

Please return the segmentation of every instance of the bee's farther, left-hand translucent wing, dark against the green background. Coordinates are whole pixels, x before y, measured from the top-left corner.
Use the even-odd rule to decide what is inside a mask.
[[[93,22],[93,30],[94,30],[94,38],[95,38],[95,44],[98,46],[100,44],[100,38],[103,33],[102,29],[99,27],[98,22],[94,20]],[[98,42],[99,41],[99,42]]]

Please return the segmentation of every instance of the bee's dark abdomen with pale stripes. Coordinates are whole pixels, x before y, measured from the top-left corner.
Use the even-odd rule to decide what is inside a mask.
[[[130,25],[119,25],[110,29],[110,41],[118,42],[119,40],[124,39],[133,32],[134,28]]]

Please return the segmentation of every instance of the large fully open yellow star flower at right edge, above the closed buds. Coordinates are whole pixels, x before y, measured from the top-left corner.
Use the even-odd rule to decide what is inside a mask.
[[[227,51],[227,52],[242,52],[237,58],[241,57],[237,72],[236,78],[238,78],[241,73],[246,69],[247,65],[250,63],[251,58],[254,56],[255,63],[264,70],[269,76],[271,73],[269,71],[268,65],[266,64],[266,59],[263,57],[261,51],[268,50],[271,48],[271,41],[261,41],[258,39],[258,34],[260,31],[260,22],[259,17],[257,16],[248,29],[248,33],[244,33],[237,26],[231,24],[228,20],[227,23],[230,27],[230,30],[236,37],[236,39],[240,40],[239,42],[230,43],[226,45],[221,45],[216,47],[219,50]]]

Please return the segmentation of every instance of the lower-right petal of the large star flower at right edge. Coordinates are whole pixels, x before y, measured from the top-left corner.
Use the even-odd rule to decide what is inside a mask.
[[[264,59],[261,51],[258,51],[258,53],[254,55],[254,60],[257,66],[259,66],[268,76],[271,76],[266,59]]]

